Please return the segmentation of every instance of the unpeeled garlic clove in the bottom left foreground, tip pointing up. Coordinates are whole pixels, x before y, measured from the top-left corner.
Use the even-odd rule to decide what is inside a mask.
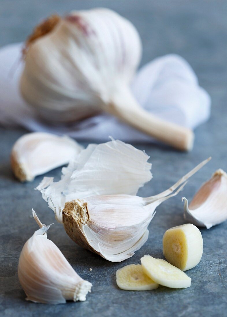
[[[46,304],[85,301],[92,284],[77,275],[57,246],[47,239],[50,225],[42,224],[34,210],[33,217],[40,229],[24,244],[18,264],[26,300]]]

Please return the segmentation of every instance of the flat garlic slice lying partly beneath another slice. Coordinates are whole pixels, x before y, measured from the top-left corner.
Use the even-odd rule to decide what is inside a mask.
[[[117,286],[129,291],[147,291],[158,288],[155,283],[144,274],[141,264],[130,264],[116,272]]]

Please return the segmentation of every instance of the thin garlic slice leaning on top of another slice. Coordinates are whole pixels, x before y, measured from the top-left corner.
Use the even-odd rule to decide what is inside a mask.
[[[167,261],[152,256],[143,256],[140,260],[144,273],[156,283],[170,288],[191,286],[191,278]]]

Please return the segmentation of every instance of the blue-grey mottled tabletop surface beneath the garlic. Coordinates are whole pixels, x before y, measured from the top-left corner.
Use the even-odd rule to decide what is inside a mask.
[[[150,196],[168,188],[201,160],[212,160],[199,171],[179,194],[157,208],[151,221],[147,243],[121,263],[111,263],[74,244],[62,226],[55,224],[48,237],[66,256],[81,277],[92,282],[87,301],[65,305],[42,305],[25,301],[17,277],[17,263],[26,240],[37,229],[31,218],[33,207],[44,223],[54,216],[33,183],[20,184],[10,170],[10,149],[25,131],[0,129],[0,314],[1,316],[226,316],[227,309],[227,223],[210,230],[201,229],[204,254],[197,267],[187,274],[187,289],[159,287],[155,291],[123,291],[117,288],[118,268],[139,263],[141,256],[162,256],[162,236],[168,228],[184,223],[182,195],[191,199],[200,185],[217,168],[227,169],[227,2],[226,1],[70,1],[1,0],[0,45],[22,41],[42,17],[71,9],[106,6],[128,17],[143,40],[142,64],[166,53],[178,53],[196,71],[200,84],[212,98],[210,121],[195,131],[190,153],[179,153],[162,146],[135,145],[150,155],[154,178],[139,191]],[[60,177],[60,168],[47,176]],[[90,272],[89,268],[93,268]]]

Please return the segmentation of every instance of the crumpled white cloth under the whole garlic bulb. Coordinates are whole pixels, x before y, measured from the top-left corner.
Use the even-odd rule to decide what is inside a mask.
[[[152,139],[108,114],[74,124],[50,126],[36,116],[19,93],[23,69],[22,44],[0,49],[0,124],[23,126],[30,131],[66,134],[77,140],[106,141],[111,135],[125,142]],[[210,116],[210,96],[199,87],[190,65],[178,55],[156,58],[142,67],[132,82],[132,92],[142,107],[158,117],[194,129]]]

